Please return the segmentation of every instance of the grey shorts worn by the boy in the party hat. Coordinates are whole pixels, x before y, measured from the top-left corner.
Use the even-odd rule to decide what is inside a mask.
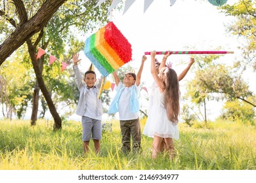
[[[94,140],[100,140],[102,137],[102,127],[101,121],[89,118],[87,116],[82,116],[82,127],[83,127],[83,141],[90,141],[91,135]]]

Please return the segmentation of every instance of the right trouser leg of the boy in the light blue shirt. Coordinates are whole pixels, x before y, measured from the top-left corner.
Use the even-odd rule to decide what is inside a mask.
[[[131,120],[131,136],[133,137],[133,151],[139,152],[140,141],[141,141],[141,133],[140,133],[140,120],[137,118],[136,120]]]

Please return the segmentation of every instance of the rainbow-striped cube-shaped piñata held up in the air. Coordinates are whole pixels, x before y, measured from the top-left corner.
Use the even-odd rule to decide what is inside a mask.
[[[108,76],[131,61],[131,44],[113,22],[100,28],[85,41],[85,56],[102,76]]]

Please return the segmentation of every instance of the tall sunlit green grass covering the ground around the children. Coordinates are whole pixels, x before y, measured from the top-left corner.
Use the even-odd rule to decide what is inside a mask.
[[[142,129],[145,120],[142,120]],[[234,122],[179,124],[175,141],[177,157],[167,154],[151,159],[152,139],[142,135],[142,153],[120,152],[119,122],[102,134],[100,155],[84,156],[81,124],[64,122],[53,131],[52,122],[38,120],[35,127],[26,120],[0,120],[0,169],[2,170],[255,170],[256,127]]]

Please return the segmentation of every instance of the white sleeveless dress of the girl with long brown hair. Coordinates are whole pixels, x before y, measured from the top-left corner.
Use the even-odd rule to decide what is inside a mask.
[[[168,119],[163,97],[164,92],[160,93],[156,82],[154,82],[148,106],[148,119],[146,120],[143,134],[148,137],[156,135],[162,138],[177,140],[179,139],[179,127],[178,125],[173,125]]]

